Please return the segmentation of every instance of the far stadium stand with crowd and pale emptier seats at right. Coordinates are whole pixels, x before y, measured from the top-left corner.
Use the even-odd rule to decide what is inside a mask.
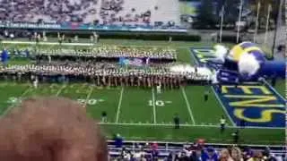
[[[178,1],[169,0],[0,1],[1,21],[101,24],[174,24],[179,22]]]

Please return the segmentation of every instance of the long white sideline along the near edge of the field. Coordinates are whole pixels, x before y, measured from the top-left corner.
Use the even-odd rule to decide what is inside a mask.
[[[166,127],[174,127],[174,124],[172,123],[98,123],[103,125],[118,125],[118,126],[166,126]],[[220,124],[180,124],[182,127],[210,127],[210,128],[220,128]],[[240,129],[241,127],[237,126],[226,126],[227,128],[234,128],[234,129]],[[260,127],[260,126],[245,126],[245,129],[274,129],[274,130],[280,130],[285,129],[284,127]]]

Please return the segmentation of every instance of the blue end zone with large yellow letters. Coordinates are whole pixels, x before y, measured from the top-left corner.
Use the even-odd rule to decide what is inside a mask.
[[[212,47],[192,47],[191,55],[197,64],[215,57]],[[225,86],[214,88],[214,94],[236,125],[251,127],[285,127],[285,100],[268,84]],[[222,91],[222,92],[219,92]]]

